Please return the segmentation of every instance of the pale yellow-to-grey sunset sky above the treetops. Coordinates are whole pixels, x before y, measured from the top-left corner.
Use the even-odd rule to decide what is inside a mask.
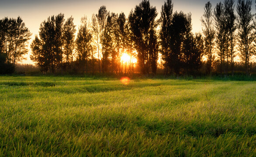
[[[192,13],[193,32],[201,31],[200,17],[203,15],[203,7],[207,1],[209,0],[172,0],[174,11],[182,10],[185,13]],[[210,1],[213,8],[219,1]],[[88,19],[91,19],[91,15],[96,14],[102,5],[105,5],[110,12],[124,12],[127,17],[130,10],[140,2],[141,0],[0,0],[0,18],[20,16],[32,32],[33,39],[39,32],[41,22],[51,15],[63,13],[65,19],[72,15],[74,24],[78,28],[82,16],[86,15]],[[164,2],[165,0],[150,0],[151,5],[157,8],[158,17],[160,17],[161,6]],[[252,13],[255,13],[254,0]],[[29,54],[26,58],[27,60],[23,63],[32,63]]]

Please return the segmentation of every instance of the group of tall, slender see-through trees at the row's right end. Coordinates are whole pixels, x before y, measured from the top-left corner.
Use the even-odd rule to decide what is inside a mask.
[[[205,4],[201,21],[209,72],[217,57],[218,71],[227,74],[231,65],[230,70],[234,74],[234,58],[238,55],[245,66],[246,74],[249,75],[249,62],[255,55],[256,43],[256,16],[251,10],[252,0],[238,0],[237,14],[234,0],[219,2],[214,10],[210,2]],[[217,56],[213,53],[214,46]]]

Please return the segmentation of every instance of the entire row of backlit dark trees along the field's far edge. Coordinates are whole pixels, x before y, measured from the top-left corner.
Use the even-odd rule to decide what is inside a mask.
[[[214,8],[207,2],[202,32],[195,34],[191,13],[174,12],[173,7],[172,0],[165,1],[157,19],[149,0],[142,0],[128,17],[102,6],[91,20],[82,17],[78,30],[72,16],[50,16],[30,44],[30,58],[43,73],[132,73],[136,64],[143,74],[156,74],[161,66],[165,74],[198,74],[204,68],[207,74],[227,75],[234,74],[239,56],[249,75],[256,48],[252,0],[238,0],[236,6],[235,0],[224,0]],[[30,36],[20,17],[0,20],[1,64],[15,67],[28,52]]]

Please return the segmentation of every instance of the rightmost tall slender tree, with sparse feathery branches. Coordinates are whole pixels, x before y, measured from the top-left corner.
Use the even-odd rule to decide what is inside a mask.
[[[237,5],[238,13],[238,36],[239,44],[238,49],[240,51],[240,58],[245,62],[246,75],[249,75],[249,60],[253,55],[252,50],[252,0],[238,0]]]

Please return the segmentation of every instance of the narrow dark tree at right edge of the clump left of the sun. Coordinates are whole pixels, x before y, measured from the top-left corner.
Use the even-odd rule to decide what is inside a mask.
[[[76,26],[74,25],[73,20],[74,18],[72,16],[69,17],[63,26],[63,51],[67,69],[71,68],[71,61],[73,61],[73,51],[75,46]]]

